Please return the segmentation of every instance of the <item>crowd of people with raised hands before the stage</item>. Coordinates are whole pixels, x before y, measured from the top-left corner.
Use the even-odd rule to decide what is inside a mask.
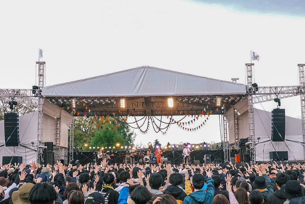
[[[305,203],[300,163],[0,166],[0,204]]]

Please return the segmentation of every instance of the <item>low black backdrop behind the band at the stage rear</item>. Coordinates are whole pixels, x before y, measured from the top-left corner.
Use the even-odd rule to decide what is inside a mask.
[[[143,150],[141,152],[145,154],[146,151],[147,150]],[[182,151],[182,149],[175,149],[165,150],[162,153],[163,156],[167,158],[167,161],[170,161],[171,164],[181,164],[183,159]],[[112,163],[124,163],[124,155],[127,155],[127,152],[127,150],[112,151],[112,154],[114,155],[111,157],[113,159]],[[74,151],[74,161],[79,160],[80,164],[87,164],[91,162],[95,163],[95,159],[97,159],[95,157],[96,153],[96,151]],[[222,149],[198,149],[191,153],[191,163],[194,163],[194,160],[199,161],[200,164],[204,163],[203,156],[205,154],[211,155],[211,162],[214,162],[214,159],[217,158],[221,158],[221,160],[224,159]],[[141,158],[136,156],[135,160],[138,161],[138,159]]]

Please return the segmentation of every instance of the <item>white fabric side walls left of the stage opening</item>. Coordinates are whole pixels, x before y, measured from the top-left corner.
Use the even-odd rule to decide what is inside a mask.
[[[56,116],[63,111],[55,104],[48,102],[44,103],[43,123],[42,123],[42,141],[53,142],[55,144],[56,133]],[[68,148],[68,126],[70,126],[73,116],[63,111],[61,113],[63,120],[61,120],[60,131],[60,146],[62,149]],[[37,128],[38,128],[38,112],[28,113],[19,116],[19,138],[20,144],[36,149],[37,145]],[[34,141],[34,147],[31,142]],[[36,161],[36,152],[26,149],[24,147],[6,147],[4,137],[4,120],[0,121],[0,163],[2,163],[2,156],[22,156],[23,163],[30,164]],[[15,151],[14,151],[15,149]],[[60,159],[65,159],[65,150],[61,150]]]

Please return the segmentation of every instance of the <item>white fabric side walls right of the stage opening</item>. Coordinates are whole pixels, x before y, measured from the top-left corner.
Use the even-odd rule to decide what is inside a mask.
[[[245,108],[246,107],[246,108]],[[238,131],[239,138],[249,137],[249,112],[248,112],[248,100],[238,102],[234,105],[237,109],[238,116]],[[233,108],[229,109],[224,116],[228,120],[228,138],[229,143],[234,142],[234,118],[233,118]],[[303,142],[302,134],[302,120],[298,118],[285,117],[285,139]],[[264,111],[254,108],[254,129],[255,138],[260,137],[260,141],[266,141],[271,139],[271,112]],[[269,137],[268,137],[269,136]],[[272,142],[274,148],[271,144],[272,141],[265,142],[256,146],[256,160],[257,161],[269,161],[269,152],[272,151],[288,151],[289,161],[304,161],[303,146],[295,142],[285,141],[284,142]],[[293,156],[294,157],[293,157]]]

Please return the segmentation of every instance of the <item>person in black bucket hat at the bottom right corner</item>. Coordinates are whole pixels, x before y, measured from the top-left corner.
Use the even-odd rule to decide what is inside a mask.
[[[282,185],[282,194],[287,199],[284,203],[296,204],[304,196],[300,183],[296,180],[287,181]]]

